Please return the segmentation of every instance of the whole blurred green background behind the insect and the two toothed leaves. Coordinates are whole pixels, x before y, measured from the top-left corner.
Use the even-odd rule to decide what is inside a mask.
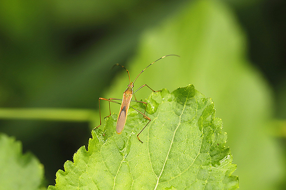
[[[286,2],[0,1],[0,132],[46,185],[99,125],[98,97],[194,84],[215,101],[240,189],[285,189]],[[148,97],[148,88],[136,92]],[[117,113],[118,105],[112,105]],[[108,103],[102,103],[102,116]],[[104,123],[104,122],[103,122]]]

